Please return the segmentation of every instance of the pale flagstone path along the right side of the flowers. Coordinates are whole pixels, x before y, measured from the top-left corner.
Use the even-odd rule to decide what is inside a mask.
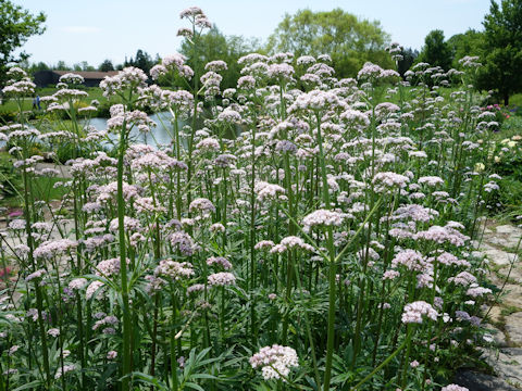
[[[498,378],[487,380],[492,387],[484,390],[522,390],[521,238],[521,228],[486,223],[481,251],[489,261],[490,281],[504,290],[487,318],[493,346],[483,349],[483,358]]]

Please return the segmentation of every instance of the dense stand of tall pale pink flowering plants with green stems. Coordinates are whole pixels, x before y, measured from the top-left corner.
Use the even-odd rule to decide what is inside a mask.
[[[196,7],[182,18],[188,43],[211,25]],[[0,390],[444,386],[481,343],[492,293],[473,239],[499,179],[495,113],[449,88],[476,59],[407,80],[371,63],[337,79],[330,62],[251,53],[222,90],[223,61],[197,75],[166,55],[151,78],[186,89],[124,68],[100,84],[120,102],[102,130],[78,116],[96,113],[78,75],[45,102],[70,121],[21,109],[0,135],[24,204],[1,231],[17,279],[3,280]],[[4,93],[33,93],[10,77]],[[65,195],[46,203],[36,179],[63,171],[35,151],[63,143]]]

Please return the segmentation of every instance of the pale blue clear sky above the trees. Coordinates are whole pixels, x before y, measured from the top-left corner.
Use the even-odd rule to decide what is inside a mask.
[[[179,49],[176,37],[179,12],[200,7],[224,35],[257,37],[263,41],[285,13],[300,9],[330,11],[340,8],[360,18],[381,22],[383,29],[403,47],[421,49],[432,29],[445,37],[482,29],[489,0],[12,0],[33,13],[47,15],[47,29],[30,37],[23,50],[29,61],[67,64],[87,61],[98,66],[109,59],[123,63],[142,49],[152,56]]]

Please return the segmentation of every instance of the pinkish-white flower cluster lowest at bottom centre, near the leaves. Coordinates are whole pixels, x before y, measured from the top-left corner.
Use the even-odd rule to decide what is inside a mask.
[[[264,380],[287,377],[290,368],[299,366],[299,360],[294,349],[273,344],[264,346],[250,357],[252,368],[261,367]]]

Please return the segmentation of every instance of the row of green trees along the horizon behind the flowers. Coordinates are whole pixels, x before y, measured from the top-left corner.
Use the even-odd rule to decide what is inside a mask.
[[[82,61],[72,66],[63,61],[57,64],[28,63],[27,54],[15,59],[14,49],[35,34],[41,34],[44,14],[33,16],[20,5],[9,0],[1,0],[2,14],[0,27],[9,39],[0,48],[0,71],[8,64],[18,63],[34,73],[41,70],[63,71],[116,71],[124,66],[136,66],[145,72],[158,64],[161,59],[152,58],[142,49],[134,56],[125,59],[123,64],[113,64],[104,60],[98,66]],[[198,36],[196,52],[184,41],[179,49],[187,56],[191,67],[198,75],[203,73],[207,62],[223,60],[228,64],[223,75],[222,87],[235,87],[240,76],[237,60],[248,52],[273,54],[275,52],[293,52],[296,58],[302,54],[330,54],[336,76],[353,77],[362,65],[370,61],[385,68],[398,66],[403,75],[412,65],[426,62],[445,71],[459,67],[459,60],[465,55],[477,55],[483,67],[477,71],[476,86],[483,90],[493,90],[498,99],[509,103],[509,97],[522,91],[522,0],[490,0],[489,13],[483,22],[484,30],[469,29],[446,40],[444,31],[430,31],[421,51],[412,48],[402,49],[402,60],[398,64],[391,62],[386,53],[390,37],[376,21],[361,20],[341,9],[326,12],[300,10],[294,15],[286,14],[274,33],[264,45],[258,39],[241,36],[225,36],[216,27],[208,34]],[[3,31],[2,30],[2,31]],[[4,72],[0,72],[0,76]],[[0,79],[0,85],[1,85]]]

